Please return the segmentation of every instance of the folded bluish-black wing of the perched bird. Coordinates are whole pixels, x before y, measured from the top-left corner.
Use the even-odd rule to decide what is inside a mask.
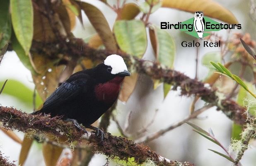
[[[74,99],[80,93],[86,93],[88,86],[89,76],[84,73],[79,73],[63,82],[46,101],[43,103],[42,111],[60,106],[60,104],[65,103],[68,100]]]

